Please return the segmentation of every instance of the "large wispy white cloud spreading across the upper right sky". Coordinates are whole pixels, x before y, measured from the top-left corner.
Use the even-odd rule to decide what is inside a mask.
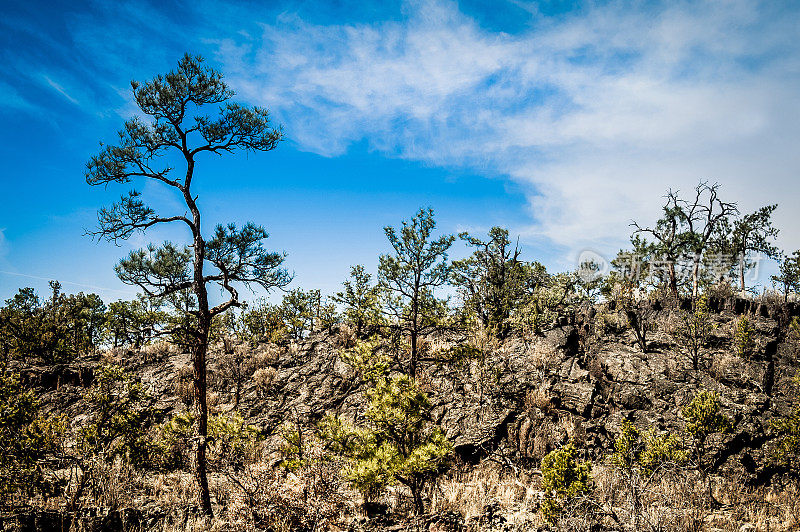
[[[791,8],[791,6],[789,6]],[[743,210],[784,203],[800,247],[800,50],[772,4],[612,3],[492,33],[446,1],[402,22],[323,26],[294,15],[216,41],[245,100],[302,149],[366,139],[389,156],[481,165],[530,191],[530,238],[614,251],[668,188],[724,185]],[[525,14],[520,11],[521,16]]]

